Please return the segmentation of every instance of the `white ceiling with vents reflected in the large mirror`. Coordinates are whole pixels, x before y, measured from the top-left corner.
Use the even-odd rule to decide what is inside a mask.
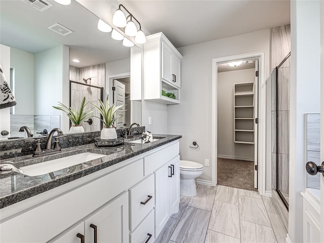
[[[37,53],[57,45],[70,47],[70,64],[86,67],[130,57],[130,48],[97,29],[99,18],[79,3],[68,6],[52,0],[53,7],[39,12],[19,0],[0,1],[0,43]],[[59,23],[73,33],[62,36],[47,27]],[[80,60],[79,63],[71,62]]]

